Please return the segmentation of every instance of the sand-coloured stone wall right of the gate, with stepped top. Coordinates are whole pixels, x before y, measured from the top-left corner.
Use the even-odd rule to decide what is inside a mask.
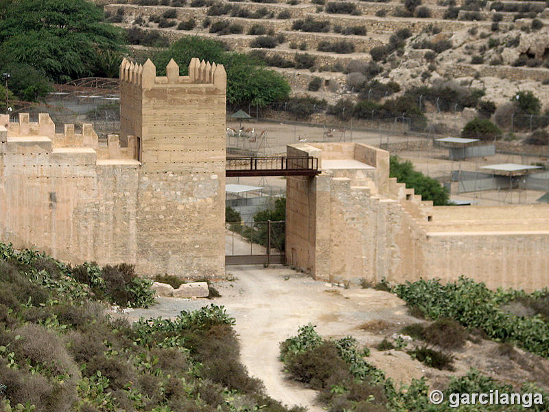
[[[433,207],[388,177],[388,152],[363,144],[295,144],[290,155],[318,157],[323,170],[287,183],[288,264],[317,279],[549,286],[546,205]],[[365,167],[323,165],[333,159]]]

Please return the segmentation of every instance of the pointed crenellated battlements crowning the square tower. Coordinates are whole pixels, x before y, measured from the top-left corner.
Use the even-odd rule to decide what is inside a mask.
[[[174,61],[166,66],[166,76],[156,76],[156,66],[147,59],[143,65],[130,62],[124,58],[120,65],[120,81],[129,83],[143,89],[152,89],[157,85],[175,85],[175,84],[212,84],[215,89],[224,90],[226,88],[226,72],[223,65],[205,62],[194,57],[189,63],[189,75],[180,76],[179,66]]]

